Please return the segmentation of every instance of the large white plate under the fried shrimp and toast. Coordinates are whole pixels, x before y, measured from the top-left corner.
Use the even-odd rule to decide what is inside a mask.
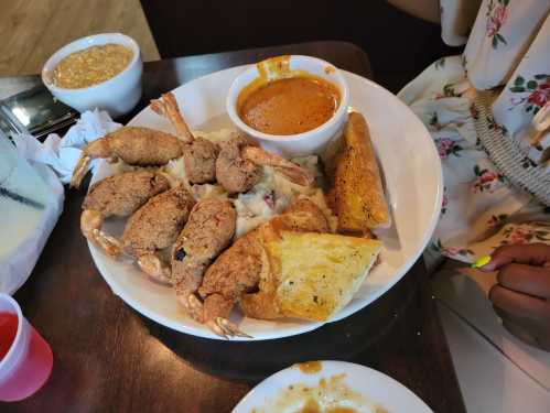
[[[224,123],[225,96],[235,78],[248,66],[239,66],[190,81],[173,93],[192,129],[201,129],[217,118]],[[344,70],[343,70],[344,72]],[[368,121],[377,154],[382,165],[390,199],[392,227],[378,231],[384,241],[381,263],[367,276],[353,301],[333,320],[338,320],[374,302],[417,261],[427,246],[441,209],[441,163],[430,134],[412,111],[396,96],[377,84],[344,72],[351,90],[351,106]],[[212,123],[212,122],[211,122]],[[129,123],[171,132],[168,121],[149,107]],[[101,162],[93,182],[110,175]],[[106,222],[107,232],[120,232],[121,222]],[[129,261],[114,260],[89,244],[99,272],[115,294],[144,316],[177,332],[199,337],[220,337],[185,315],[170,287],[148,280]],[[237,311],[231,319],[254,339],[273,339],[310,332],[322,323],[242,318]],[[248,340],[237,337],[236,340]]]

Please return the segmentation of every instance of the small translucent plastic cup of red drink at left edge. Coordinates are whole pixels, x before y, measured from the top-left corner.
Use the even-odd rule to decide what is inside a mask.
[[[35,393],[52,372],[50,345],[29,324],[19,304],[8,294],[0,294],[0,314],[17,316],[17,333],[8,352],[0,359],[0,401],[13,402]],[[8,336],[0,324],[0,339]]]

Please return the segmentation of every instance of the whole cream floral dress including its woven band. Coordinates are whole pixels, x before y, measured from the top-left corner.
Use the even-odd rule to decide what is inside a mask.
[[[549,11],[550,0],[441,1],[443,40],[467,39],[465,51],[399,94],[443,167],[429,267],[441,256],[470,263],[507,243],[550,243]]]

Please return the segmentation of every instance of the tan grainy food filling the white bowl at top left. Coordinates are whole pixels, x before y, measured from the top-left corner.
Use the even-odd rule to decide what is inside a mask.
[[[90,46],[71,53],[53,70],[53,84],[65,89],[79,89],[100,84],[128,67],[133,52],[121,44]]]

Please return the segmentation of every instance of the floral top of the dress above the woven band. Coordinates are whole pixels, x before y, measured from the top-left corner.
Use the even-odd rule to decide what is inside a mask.
[[[550,173],[550,130],[536,139],[540,131],[531,128],[550,105],[550,0],[440,1],[443,40],[467,42],[462,59],[468,80],[498,91],[495,126]]]

